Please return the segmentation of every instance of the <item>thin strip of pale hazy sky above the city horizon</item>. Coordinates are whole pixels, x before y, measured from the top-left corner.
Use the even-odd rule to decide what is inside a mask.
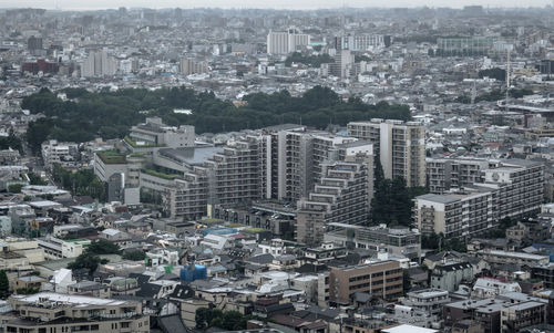
[[[44,8],[62,10],[92,10],[117,7],[147,8],[275,8],[318,9],[336,7],[544,7],[553,0],[0,0],[0,8]]]

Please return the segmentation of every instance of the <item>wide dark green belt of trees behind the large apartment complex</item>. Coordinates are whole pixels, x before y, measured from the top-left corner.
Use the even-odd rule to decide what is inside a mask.
[[[71,93],[75,94],[75,93]],[[213,92],[196,93],[186,87],[148,91],[127,89],[117,92],[84,93],[79,101],[58,98],[47,89],[23,98],[22,107],[47,117],[29,124],[27,142],[40,150],[49,138],[86,142],[94,137],[123,138],[131,126],[148,116],[160,116],[172,126],[189,124],[197,133],[218,133],[258,128],[281,123],[299,123],[325,128],[329,122],[346,125],[352,121],[375,117],[410,119],[406,105],[379,103],[367,105],[359,98],[342,102],[330,89],[316,86],[300,97],[286,91],[253,94],[245,97],[248,106],[235,107],[218,100]],[[175,114],[174,108],[189,108],[192,115]]]

